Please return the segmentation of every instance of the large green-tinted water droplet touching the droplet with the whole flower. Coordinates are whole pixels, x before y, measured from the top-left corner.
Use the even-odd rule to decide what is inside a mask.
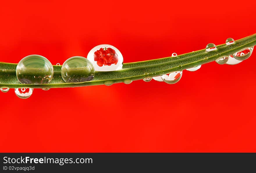
[[[71,57],[61,67],[61,76],[65,82],[91,81],[95,75],[92,63],[85,57]]]

